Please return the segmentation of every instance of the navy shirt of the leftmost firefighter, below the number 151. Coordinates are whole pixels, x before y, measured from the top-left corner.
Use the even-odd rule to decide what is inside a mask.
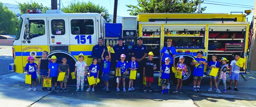
[[[98,59],[101,59],[101,55],[102,55],[102,52],[103,50],[107,50],[106,46],[99,46],[99,45],[96,45],[96,46],[93,46],[92,48],[92,57],[97,57]],[[104,52],[104,56],[107,54],[107,51]]]

